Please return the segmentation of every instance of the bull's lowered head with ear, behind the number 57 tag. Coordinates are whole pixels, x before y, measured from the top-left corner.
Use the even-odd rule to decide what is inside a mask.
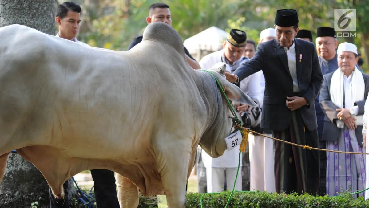
[[[211,71],[218,79],[219,83],[224,89],[225,94],[231,101],[256,107],[257,104],[248,95],[246,95],[235,84],[232,84],[225,79],[225,70],[226,64],[218,63],[215,64],[209,71]],[[228,104],[225,101],[223,94],[219,90],[219,87],[217,90],[219,94],[217,115],[214,115],[215,120],[213,124],[210,125],[200,140],[201,148],[203,148],[203,150],[205,150],[207,154],[213,158],[223,155],[224,151],[227,149],[224,138],[230,134],[232,127],[232,113],[228,108]]]

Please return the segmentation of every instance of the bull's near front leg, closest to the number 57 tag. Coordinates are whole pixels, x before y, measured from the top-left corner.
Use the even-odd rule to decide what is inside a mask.
[[[168,148],[160,171],[164,194],[169,208],[186,207],[186,182],[190,152],[181,148]]]

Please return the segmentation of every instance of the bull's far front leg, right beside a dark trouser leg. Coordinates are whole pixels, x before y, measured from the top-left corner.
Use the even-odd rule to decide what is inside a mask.
[[[138,188],[127,178],[117,174],[118,201],[121,208],[138,207]]]

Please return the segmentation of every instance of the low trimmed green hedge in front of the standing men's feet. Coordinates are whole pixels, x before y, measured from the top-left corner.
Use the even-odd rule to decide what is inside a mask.
[[[204,208],[223,208],[227,204],[231,192],[204,195]],[[187,194],[187,208],[200,208],[201,194]],[[348,192],[338,197],[318,196],[308,194],[277,194],[268,192],[235,192],[229,208],[369,208],[369,200],[363,197],[353,198]]]

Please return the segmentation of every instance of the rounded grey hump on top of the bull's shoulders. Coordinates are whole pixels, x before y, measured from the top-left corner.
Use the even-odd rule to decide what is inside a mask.
[[[172,26],[166,23],[154,22],[148,24],[144,31],[143,40],[153,40],[163,44],[166,43],[180,54],[184,55],[182,38]]]

